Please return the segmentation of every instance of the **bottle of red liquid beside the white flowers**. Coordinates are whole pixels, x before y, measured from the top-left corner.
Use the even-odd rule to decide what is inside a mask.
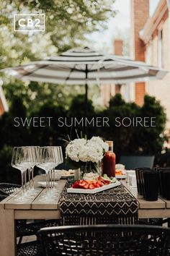
[[[113,152],[113,142],[111,140],[107,140],[106,142],[109,145],[109,151],[104,154],[102,160],[102,174],[115,177],[116,155]]]

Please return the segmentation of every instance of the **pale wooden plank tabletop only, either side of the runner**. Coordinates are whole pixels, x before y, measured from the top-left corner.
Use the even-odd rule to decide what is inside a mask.
[[[9,197],[6,197],[5,200],[0,202],[0,208],[4,210],[14,210],[16,212],[15,217],[17,218],[17,211],[19,210],[27,210],[27,218],[31,219],[33,216],[29,217],[29,212],[32,210],[58,210],[58,200],[59,200],[59,194],[56,195],[55,201],[53,200],[48,200],[47,202],[42,200],[41,197],[42,195],[45,195],[46,189],[40,187],[40,184],[37,182],[44,182],[45,181],[45,176],[40,175],[35,177],[35,189],[37,190],[37,193],[34,197],[31,199],[27,199],[24,202],[19,202],[17,201],[17,197],[21,195],[21,191],[14,192],[14,194],[10,195]],[[140,218],[147,218],[147,216],[143,216],[143,210],[169,210],[170,213],[170,200],[165,200],[161,197],[158,198],[157,201],[146,201],[143,200],[143,197],[138,195],[137,189],[136,188],[131,188],[125,180],[121,181],[122,184],[125,186],[126,189],[138,200],[138,208],[139,208],[139,217]],[[59,180],[57,185],[57,189],[59,192],[63,191],[63,187],[66,184],[66,179],[61,179]],[[23,211],[24,212],[24,211]],[[164,213],[166,214],[166,213]],[[24,213],[25,216],[25,213]],[[162,215],[161,215],[162,216]],[[160,216],[160,218],[161,218]],[[36,216],[35,216],[36,217]],[[157,217],[157,216],[155,216]],[[164,217],[164,216],[163,216]]]

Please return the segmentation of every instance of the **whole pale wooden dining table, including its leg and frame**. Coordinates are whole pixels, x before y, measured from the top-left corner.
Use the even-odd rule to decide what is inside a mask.
[[[42,200],[46,189],[40,187],[38,182],[44,182],[45,176],[35,177],[36,193],[32,198],[19,201],[17,198],[22,194],[19,189],[5,200],[0,202],[0,255],[15,256],[16,255],[16,236],[15,236],[15,220],[27,219],[58,219],[61,217],[58,209],[58,201],[60,192],[66,185],[66,179],[58,181],[58,194],[55,200]],[[139,218],[170,218],[170,200],[158,198],[157,201],[146,201],[138,195],[137,189],[130,187],[125,180],[121,181],[126,189],[138,201],[138,217]]]

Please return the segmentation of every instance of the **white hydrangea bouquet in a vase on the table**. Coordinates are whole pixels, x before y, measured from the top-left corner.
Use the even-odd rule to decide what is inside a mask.
[[[83,173],[96,172],[108,145],[101,137],[75,139],[66,146],[66,160],[73,168],[81,168]]]

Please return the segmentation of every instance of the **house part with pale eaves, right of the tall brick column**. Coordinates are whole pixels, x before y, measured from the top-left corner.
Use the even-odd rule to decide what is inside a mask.
[[[136,0],[135,0],[136,1]],[[140,30],[146,51],[146,63],[169,71],[163,80],[146,82],[146,93],[161,101],[170,129],[170,20],[169,0],[160,0],[152,17]]]

